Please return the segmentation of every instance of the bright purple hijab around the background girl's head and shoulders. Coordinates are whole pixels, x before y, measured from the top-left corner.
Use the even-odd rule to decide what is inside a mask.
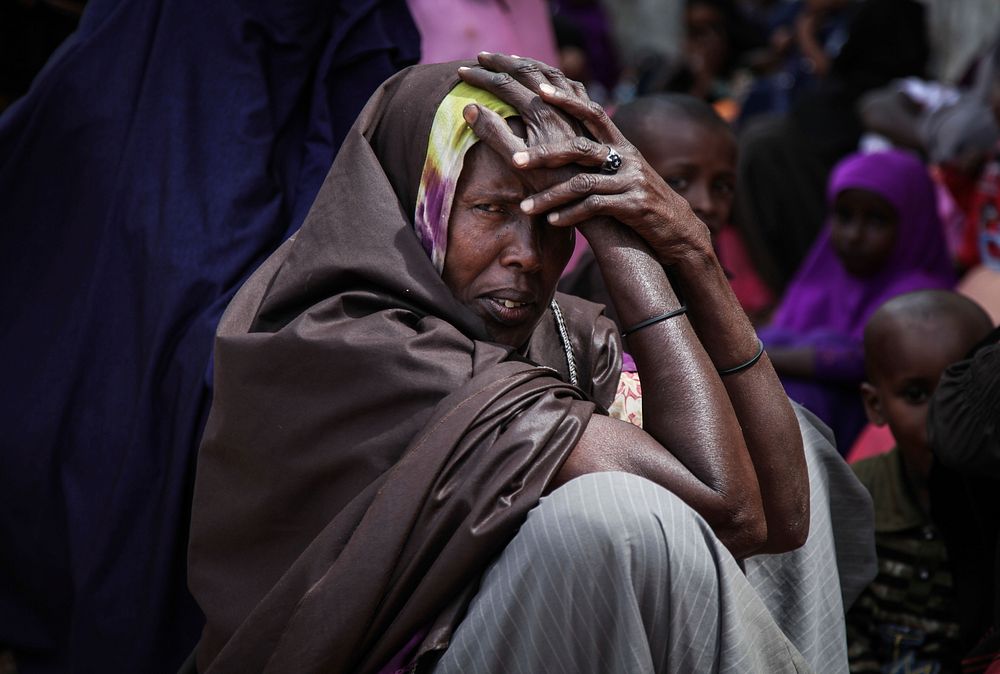
[[[868,317],[890,297],[955,285],[934,185],[920,159],[901,150],[849,155],[831,173],[828,210],[848,189],[875,192],[899,215],[895,247],[885,268],[869,278],[850,275],[830,242],[828,220],[789,284],[771,328],[860,339]]]

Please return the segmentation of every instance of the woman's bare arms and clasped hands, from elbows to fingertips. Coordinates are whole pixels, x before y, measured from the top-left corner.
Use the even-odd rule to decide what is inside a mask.
[[[482,53],[458,74],[520,113],[523,136],[479,104],[464,117],[512,170],[536,176],[519,208],[547,224],[535,234],[543,247],[553,230],[587,238],[642,378],[645,433],[595,415],[556,484],[632,472],[691,504],[738,557],[797,547],[809,495],[795,417],[766,356],[740,367],[756,363],[760,342],[708,227],[558,69]]]

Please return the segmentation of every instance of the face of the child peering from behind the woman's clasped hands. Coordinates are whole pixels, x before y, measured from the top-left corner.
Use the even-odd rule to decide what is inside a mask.
[[[643,134],[636,145],[714,236],[733,212],[736,141],[725,129],[679,115],[658,121],[656,133]]]

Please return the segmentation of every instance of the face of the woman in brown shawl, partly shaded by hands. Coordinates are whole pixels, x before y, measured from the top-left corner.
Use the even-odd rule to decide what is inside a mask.
[[[491,339],[523,346],[555,294],[574,229],[521,211],[537,192],[485,143],[465,157],[448,221],[442,278],[486,323]]]

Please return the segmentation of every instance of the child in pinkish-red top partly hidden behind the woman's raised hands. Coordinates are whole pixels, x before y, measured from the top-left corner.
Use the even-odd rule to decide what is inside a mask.
[[[733,292],[751,320],[758,322],[770,312],[774,296],[760,280],[739,233],[730,224],[736,188],[736,138],[729,124],[708,103],[685,94],[643,96],[621,106],[614,120],[671,189],[708,225]],[[589,251],[566,274],[559,289],[601,302],[612,320],[616,319]]]

